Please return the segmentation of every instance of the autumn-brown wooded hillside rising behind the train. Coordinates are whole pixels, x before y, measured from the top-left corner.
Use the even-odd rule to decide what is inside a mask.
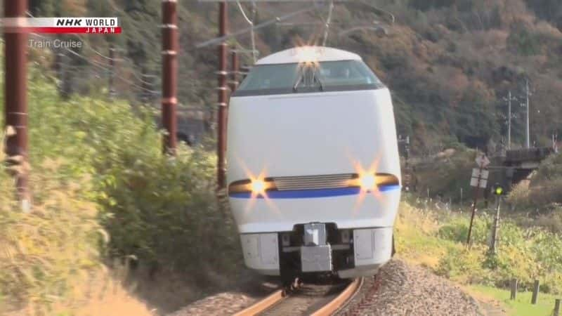
[[[435,153],[455,143],[471,147],[483,147],[490,140],[500,143],[507,131],[507,105],[502,98],[509,90],[523,96],[525,79],[532,87],[532,142],[549,145],[551,134],[558,133],[562,118],[562,6],[558,1],[352,2],[336,5],[327,45],[360,53],[388,84],[399,133],[413,136],[414,153]],[[259,3],[254,24],[309,5]],[[108,42],[124,48],[128,62],[119,72],[128,77],[159,75],[159,1],[32,0],[31,6],[32,14],[39,16],[119,16],[124,34],[89,37],[91,46],[101,52],[107,51]],[[256,39],[261,56],[299,43],[318,43],[327,6],[316,6],[311,13],[259,29]],[[183,0],[179,7],[180,100],[185,106],[210,109],[216,100],[216,49],[195,49],[195,44],[216,37],[218,4]],[[251,6],[244,3],[242,7],[251,18]],[[393,13],[396,22],[388,23],[388,15],[377,8]],[[249,26],[235,3],[229,6],[229,18],[231,31]],[[319,24],[299,25],[305,21]],[[388,34],[363,28],[340,36],[343,30],[372,27],[374,22]],[[249,33],[229,43],[249,48]],[[96,58],[85,48],[83,53]],[[244,63],[251,64],[249,55]],[[151,88],[160,90],[159,79]],[[75,91],[89,93],[91,89]],[[520,103],[515,101],[513,107],[515,143],[523,141],[525,109]]]

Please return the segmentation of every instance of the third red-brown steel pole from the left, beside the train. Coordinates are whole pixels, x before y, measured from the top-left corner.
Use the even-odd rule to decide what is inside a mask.
[[[218,37],[226,35],[226,1],[219,4],[218,7]],[[226,165],[225,165],[225,151],[226,151],[226,106],[227,106],[227,86],[226,76],[226,59],[227,59],[227,46],[222,42],[218,46],[218,131],[217,131],[217,148],[216,154],[218,157],[217,162],[217,185],[218,190],[225,187],[226,180]]]

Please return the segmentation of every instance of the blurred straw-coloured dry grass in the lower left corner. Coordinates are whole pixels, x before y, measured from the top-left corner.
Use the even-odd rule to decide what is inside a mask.
[[[5,136],[0,133],[0,161]],[[46,160],[32,173],[34,205],[22,213],[13,180],[0,166],[0,314],[153,315],[124,287],[123,272],[100,263],[106,233],[83,190],[89,179],[57,179],[63,160]]]

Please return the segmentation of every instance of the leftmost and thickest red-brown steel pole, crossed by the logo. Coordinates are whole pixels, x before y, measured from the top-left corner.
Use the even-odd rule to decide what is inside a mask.
[[[6,18],[25,18],[27,0],[4,0]],[[27,35],[19,27],[4,33],[6,44],[5,110],[6,127],[11,126],[15,134],[6,139],[8,157],[18,157],[20,168],[16,173],[18,196],[24,209],[28,209],[30,192],[27,165]]]

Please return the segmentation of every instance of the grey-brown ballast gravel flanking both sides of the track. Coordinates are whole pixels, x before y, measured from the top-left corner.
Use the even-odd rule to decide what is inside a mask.
[[[232,291],[195,301],[169,316],[233,315],[263,298],[273,288],[262,287],[261,295]],[[336,315],[438,316],[485,315],[477,301],[462,289],[428,270],[392,260],[376,277],[365,277],[360,291]]]

